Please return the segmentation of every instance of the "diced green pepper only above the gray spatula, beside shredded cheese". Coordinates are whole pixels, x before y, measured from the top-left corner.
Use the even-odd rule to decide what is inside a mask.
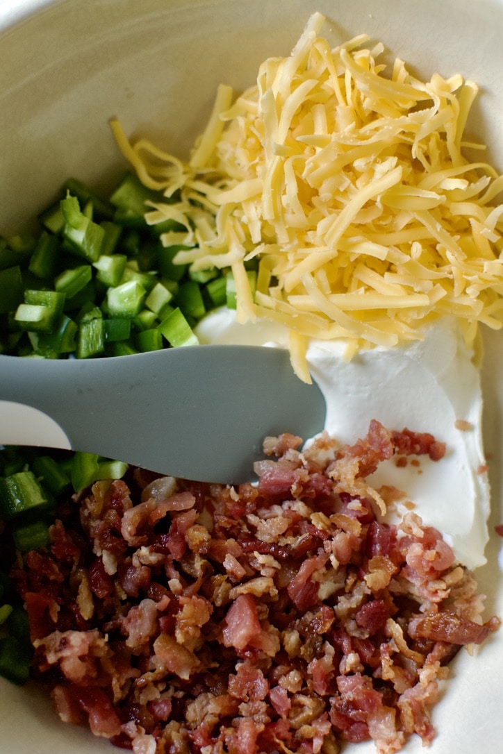
[[[232,273],[189,271],[164,247],[168,220],[147,225],[146,201],[166,201],[127,173],[109,200],[75,179],[38,216],[38,238],[0,240],[0,350],[45,358],[123,356],[197,342],[208,310],[235,307]]]

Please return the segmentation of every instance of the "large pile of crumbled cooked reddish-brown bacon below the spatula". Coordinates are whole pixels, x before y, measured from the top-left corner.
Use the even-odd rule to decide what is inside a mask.
[[[255,485],[134,470],[60,506],[13,575],[64,721],[135,754],[431,742],[446,664],[498,620],[413,510],[382,523],[367,477],[445,449],[377,421],[354,446],[300,446],[267,438]]]

